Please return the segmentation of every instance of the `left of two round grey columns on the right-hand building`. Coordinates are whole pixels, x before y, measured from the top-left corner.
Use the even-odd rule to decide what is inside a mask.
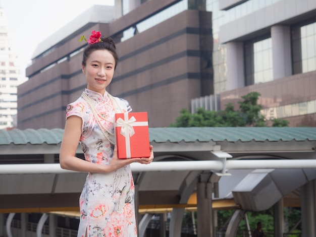
[[[227,52],[227,90],[245,86],[244,48],[242,42],[228,42]]]

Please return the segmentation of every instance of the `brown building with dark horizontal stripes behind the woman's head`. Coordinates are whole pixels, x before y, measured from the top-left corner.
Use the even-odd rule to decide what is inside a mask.
[[[133,111],[147,111],[150,127],[168,126],[191,99],[213,93],[212,13],[197,9],[187,1],[147,1],[118,19],[109,6],[79,16],[86,21],[77,29],[65,26],[73,32],[61,29],[55,44],[42,42],[34,53],[29,80],[19,87],[19,128],[64,127],[66,105],[86,87],[81,71],[86,43],[78,40],[92,30],[117,44],[120,60],[107,90],[128,100]],[[99,18],[107,15],[101,22],[86,17],[101,12]]]

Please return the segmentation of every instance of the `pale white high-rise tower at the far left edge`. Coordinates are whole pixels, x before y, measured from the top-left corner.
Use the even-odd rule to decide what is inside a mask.
[[[24,80],[12,46],[4,9],[0,6],[0,129],[17,127],[17,88]]]

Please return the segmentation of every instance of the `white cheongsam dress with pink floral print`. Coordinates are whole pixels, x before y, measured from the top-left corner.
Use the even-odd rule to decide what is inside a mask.
[[[99,121],[104,128],[114,133],[114,114],[129,112],[126,100],[85,89],[84,93],[94,105]],[[66,119],[76,115],[82,118],[81,147],[86,161],[100,165],[109,164],[114,145],[99,128],[90,105],[81,96],[67,106]],[[111,135],[110,139],[114,141]],[[137,236],[135,187],[130,166],[111,173],[88,173],[79,199],[80,223],[78,237],[135,237]]]

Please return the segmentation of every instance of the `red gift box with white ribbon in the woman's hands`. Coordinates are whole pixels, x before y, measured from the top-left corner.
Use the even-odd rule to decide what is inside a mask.
[[[114,127],[119,159],[150,156],[147,112],[116,113]]]

